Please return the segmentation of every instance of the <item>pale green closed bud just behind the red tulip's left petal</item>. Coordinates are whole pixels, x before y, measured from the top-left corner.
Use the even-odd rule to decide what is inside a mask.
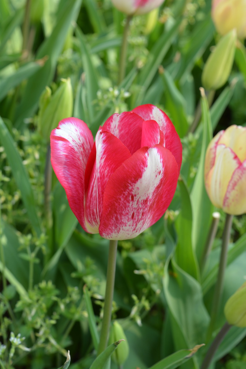
[[[73,94],[70,78],[61,79],[61,85],[51,95],[46,87],[39,101],[38,130],[49,141],[51,131],[58,126],[60,120],[71,117],[73,112]]]

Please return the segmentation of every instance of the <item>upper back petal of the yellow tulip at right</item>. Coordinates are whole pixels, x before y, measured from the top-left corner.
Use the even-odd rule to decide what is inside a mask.
[[[231,125],[221,135],[218,144],[230,147],[243,162],[246,159],[246,128],[240,125]]]

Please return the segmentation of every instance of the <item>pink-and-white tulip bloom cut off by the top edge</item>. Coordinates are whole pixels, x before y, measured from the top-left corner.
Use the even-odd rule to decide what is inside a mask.
[[[114,6],[127,15],[146,14],[158,8],[164,0],[112,0]]]

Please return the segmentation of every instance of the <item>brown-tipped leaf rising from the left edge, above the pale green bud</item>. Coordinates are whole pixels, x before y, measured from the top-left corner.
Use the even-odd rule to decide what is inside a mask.
[[[32,76],[43,66],[42,60],[27,63],[6,77],[0,77],[0,101],[7,95],[10,89],[18,86],[24,79]]]

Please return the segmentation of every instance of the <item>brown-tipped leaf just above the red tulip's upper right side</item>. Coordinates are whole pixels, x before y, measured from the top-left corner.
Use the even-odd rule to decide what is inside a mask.
[[[177,134],[182,138],[188,130],[188,121],[185,115],[185,99],[175,86],[167,70],[161,70],[160,75],[164,83],[165,108],[169,113]]]

